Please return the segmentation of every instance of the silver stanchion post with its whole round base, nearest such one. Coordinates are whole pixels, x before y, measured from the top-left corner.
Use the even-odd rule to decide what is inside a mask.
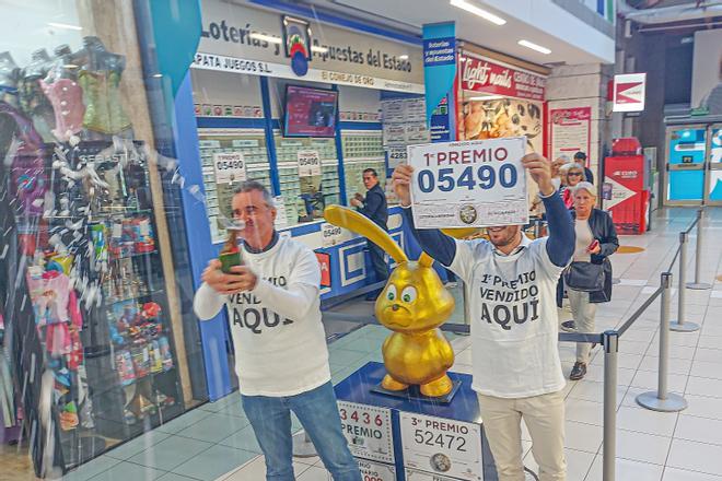
[[[660,308],[660,371],[656,391],[637,396],[642,408],[661,412],[677,412],[687,408],[682,396],[667,392],[667,367],[669,363],[669,305],[672,303],[672,273],[662,273],[662,306]]]

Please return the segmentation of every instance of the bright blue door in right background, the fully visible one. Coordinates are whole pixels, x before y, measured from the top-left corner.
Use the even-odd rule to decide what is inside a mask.
[[[704,198],[707,127],[667,128],[667,206],[699,206]]]

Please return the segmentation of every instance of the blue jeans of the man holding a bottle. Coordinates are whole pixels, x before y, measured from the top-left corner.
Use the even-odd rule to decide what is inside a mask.
[[[334,386],[296,396],[242,396],[243,409],[266,456],[267,481],[293,481],[291,411],[295,413],[334,481],[361,481],[361,472],[341,432]]]

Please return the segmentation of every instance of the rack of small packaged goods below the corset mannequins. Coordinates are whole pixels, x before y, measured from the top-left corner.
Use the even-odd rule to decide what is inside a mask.
[[[34,251],[27,279],[40,359],[72,468],[180,414],[183,398],[142,143],[46,151],[55,152],[44,171],[56,200],[18,222],[23,249]],[[66,298],[68,320],[53,304]]]

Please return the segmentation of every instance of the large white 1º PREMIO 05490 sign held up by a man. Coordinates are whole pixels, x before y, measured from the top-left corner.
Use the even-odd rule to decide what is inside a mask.
[[[409,145],[416,226],[526,224],[525,142],[513,137]]]

